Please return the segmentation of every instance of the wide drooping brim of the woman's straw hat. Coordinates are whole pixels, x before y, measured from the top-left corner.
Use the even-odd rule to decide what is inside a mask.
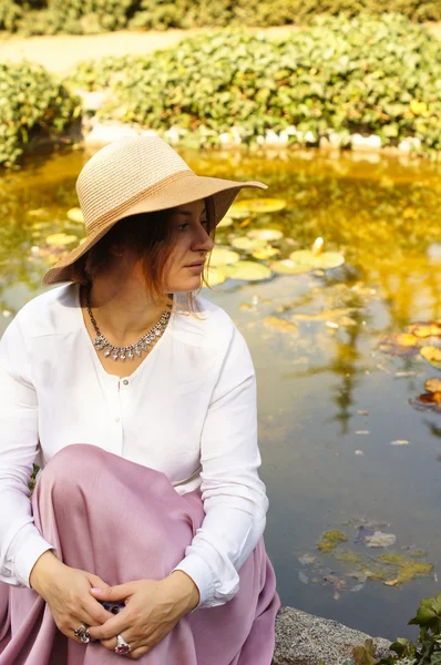
[[[43,284],[57,284],[58,282],[71,282],[72,265],[95,245],[120,219],[140,213],[154,213],[164,211],[185,203],[192,203],[202,198],[211,197],[215,226],[223,219],[229,206],[244,187],[267,190],[267,185],[259,182],[236,182],[217,177],[195,175],[187,172],[185,177],[162,187],[156,194],[146,193],[145,198],[127,206],[122,213],[116,212],[107,216],[105,224],[95,232],[90,233],[86,238],[61,260],[59,260],[43,277]]]

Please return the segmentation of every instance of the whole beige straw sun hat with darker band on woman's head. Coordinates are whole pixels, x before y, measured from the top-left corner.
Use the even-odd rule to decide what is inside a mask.
[[[70,282],[71,267],[122,217],[151,213],[211,197],[217,225],[242,187],[267,186],[196,175],[158,136],[135,136],[101,149],[82,168],[76,193],[86,237],[43,277],[43,284]]]

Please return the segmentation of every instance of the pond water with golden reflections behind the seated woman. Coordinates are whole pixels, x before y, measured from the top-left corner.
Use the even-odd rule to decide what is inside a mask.
[[[2,177],[0,332],[42,290],[54,258],[44,238],[82,235],[66,211],[78,205],[74,181],[89,156],[40,157]],[[409,400],[438,370],[419,352],[384,352],[382,341],[441,319],[441,167],[314,151],[184,156],[198,173],[260,180],[268,192],[252,196],[287,203],[221,228],[221,244],[270,227],[284,233],[281,257],[321,236],[346,258],[332,269],[204,289],[236,321],[256,365],[266,542],[281,601],[372,635],[414,637],[408,620],[440,591],[441,417]],[[330,530],[348,540],[320,552]],[[396,542],[367,546],[375,531]],[[379,563],[384,553],[433,569],[401,584],[402,569]]]

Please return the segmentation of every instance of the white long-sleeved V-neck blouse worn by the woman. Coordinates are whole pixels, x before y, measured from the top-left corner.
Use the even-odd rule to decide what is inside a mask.
[[[162,471],[180,494],[201,487],[206,516],[176,569],[196,583],[199,607],[235,595],[268,508],[257,474],[256,380],[232,319],[203,298],[198,307],[198,318],[172,314],[151,354],[121,379],[98,358],[78,285],[19,311],[0,344],[0,580],[29,586],[51,548],[33,524],[32,463],[88,442]]]

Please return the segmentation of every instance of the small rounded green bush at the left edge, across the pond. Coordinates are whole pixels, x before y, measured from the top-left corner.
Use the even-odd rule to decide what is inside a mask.
[[[0,63],[0,165],[14,164],[25,145],[60,133],[80,113],[79,100],[41,65]]]

